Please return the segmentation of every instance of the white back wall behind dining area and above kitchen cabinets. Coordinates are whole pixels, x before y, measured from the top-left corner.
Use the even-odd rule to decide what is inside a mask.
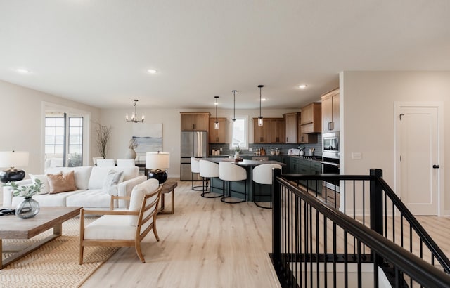
[[[320,98],[318,97],[318,100]],[[131,103],[132,104],[132,103]],[[122,158],[127,152],[128,143],[133,136],[133,125],[140,125],[141,123],[125,122],[125,114],[131,114],[133,107],[120,110],[102,110],[101,123],[111,125],[113,128],[111,132],[110,145],[108,145],[108,158]],[[298,112],[299,109],[292,110],[263,110],[263,117],[283,117],[284,113]],[[181,143],[181,117],[180,112],[210,112],[211,117],[215,117],[215,108],[211,110],[180,110],[180,109],[146,109],[145,107],[138,107],[138,114],[146,116],[145,123],[162,123],[162,152],[170,153],[170,168],[167,169],[169,177],[179,177],[180,174],[180,143]],[[233,110],[218,109],[217,117],[231,117]],[[258,109],[253,110],[236,110],[236,115],[249,116],[249,141],[252,143],[252,117],[259,116]],[[96,154],[99,155],[95,150]]]

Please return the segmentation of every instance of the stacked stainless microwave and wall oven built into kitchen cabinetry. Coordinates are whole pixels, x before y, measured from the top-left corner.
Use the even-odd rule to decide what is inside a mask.
[[[340,174],[339,132],[322,134],[322,174]],[[325,183],[328,189],[339,192],[339,181]]]

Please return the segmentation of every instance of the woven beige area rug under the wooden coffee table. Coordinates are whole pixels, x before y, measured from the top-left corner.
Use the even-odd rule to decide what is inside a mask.
[[[94,218],[86,218],[85,223],[91,221]],[[32,240],[3,240],[4,247],[28,246],[51,233],[53,230]],[[79,265],[79,217],[72,218],[63,223],[63,235],[0,270],[0,287],[80,287],[117,249],[85,247]]]

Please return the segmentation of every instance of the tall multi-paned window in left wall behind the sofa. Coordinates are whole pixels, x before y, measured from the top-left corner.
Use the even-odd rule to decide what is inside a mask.
[[[46,114],[45,168],[82,166],[83,117]]]

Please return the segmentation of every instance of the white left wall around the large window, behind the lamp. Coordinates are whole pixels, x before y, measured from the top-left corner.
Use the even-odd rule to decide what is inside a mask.
[[[27,174],[44,172],[44,146],[41,137],[44,133],[44,103],[68,107],[77,112],[84,111],[94,119],[101,116],[101,111],[96,107],[0,81],[0,151],[29,151],[29,165],[20,167]],[[91,147],[95,148],[95,138],[92,135],[88,138]],[[91,152],[92,150],[84,155],[86,161]]]

